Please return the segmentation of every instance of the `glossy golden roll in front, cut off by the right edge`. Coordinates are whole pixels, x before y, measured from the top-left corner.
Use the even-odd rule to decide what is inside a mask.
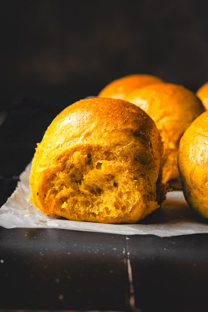
[[[178,169],[189,206],[208,218],[208,112],[196,118],[183,134]]]

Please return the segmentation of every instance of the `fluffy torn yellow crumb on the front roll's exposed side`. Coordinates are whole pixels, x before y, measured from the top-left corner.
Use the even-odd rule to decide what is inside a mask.
[[[138,171],[135,176],[124,159],[109,151],[75,151],[59,161],[61,170],[53,172],[44,185],[47,214],[79,221],[87,217],[91,222],[135,223],[159,207],[150,177]]]

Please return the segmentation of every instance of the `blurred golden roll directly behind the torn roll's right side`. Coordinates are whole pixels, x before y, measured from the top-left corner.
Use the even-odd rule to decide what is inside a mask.
[[[204,112],[201,101],[180,85],[147,85],[125,98],[152,117],[164,141],[163,182],[179,178],[177,152],[187,127]]]

